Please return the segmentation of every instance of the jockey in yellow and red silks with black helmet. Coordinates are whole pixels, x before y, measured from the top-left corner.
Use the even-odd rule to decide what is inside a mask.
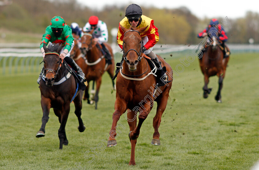
[[[140,29],[148,26],[146,31],[140,35],[144,45],[141,50],[142,53],[151,58],[158,70],[162,70],[161,62],[158,60],[156,54],[152,51],[153,46],[159,40],[158,28],[155,27],[154,20],[146,17],[145,15],[142,15],[142,9],[137,4],[129,5],[125,11],[125,18],[123,18],[119,23],[119,30],[117,34],[117,42],[122,49],[124,33],[121,29],[121,26],[125,27],[126,29],[130,29],[131,27]]]

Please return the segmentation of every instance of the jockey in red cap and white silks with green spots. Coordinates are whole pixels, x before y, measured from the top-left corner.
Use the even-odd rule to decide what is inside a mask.
[[[105,22],[99,20],[99,18],[97,16],[89,17],[89,20],[85,24],[83,31],[90,32],[92,30],[94,30],[92,32],[93,41],[96,43],[97,48],[99,50],[101,50],[101,52],[105,56],[106,63],[112,64],[112,61],[111,61],[112,56],[111,56],[109,50],[103,44],[104,42],[108,41],[108,29],[107,29]],[[100,48],[100,46],[99,46],[99,44],[97,44],[97,42],[99,44],[101,44],[102,48]]]

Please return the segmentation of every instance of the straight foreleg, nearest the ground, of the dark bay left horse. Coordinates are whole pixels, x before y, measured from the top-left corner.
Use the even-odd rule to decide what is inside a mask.
[[[65,126],[68,120],[68,114],[70,111],[70,102],[67,102],[64,104],[64,108],[61,114],[61,123],[60,123],[60,128],[58,131],[59,139],[60,139],[60,149],[63,148],[63,143],[66,145],[67,141],[67,136],[66,136],[66,131],[65,131]]]

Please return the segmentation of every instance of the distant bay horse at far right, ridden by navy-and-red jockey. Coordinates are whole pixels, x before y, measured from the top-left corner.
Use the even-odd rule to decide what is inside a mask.
[[[221,103],[221,89],[229,57],[223,58],[224,54],[221,49],[222,47],[220,46],[221,43],[219,40],[216,40],[218,35],[216,35],[215,32],[217,32],[217,29],[214,27],[209,30],[211,36],[205,43],[205,52],[201,57],[201,60],[199,60],[199,64],[201,71],[204,74],[203,97],[205,99],[208,98],[208,94],[212,91],[212,88],[208,88],[209,77],[217,75],[219,77],[219,88],[215,100]]]

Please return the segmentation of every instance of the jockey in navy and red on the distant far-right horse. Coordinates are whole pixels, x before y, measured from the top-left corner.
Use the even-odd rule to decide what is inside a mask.
[[[220,45],[223,47],[224,58],[226,58],[230,55],[229,48],[225,45],[225,42],[228,41],[228,37],[225,33],[225,30],[224,30],[223,26],[221,24],[219,24],[219,21],[217,19],[215,19],[215,18],[212,19],[210,21],[209,26],[207,28],[205,28],[202,32],[200,32],[197,35],[197,37],[198,38],[204,38],[204,37],[208,36],[208,31],[211,27],[213,27],[213,25],[215,25],[215,27],[217,27],[218,35],[219,35],[219,37],[217,39],[219,39],[221,41]],[[204,46],[203,46],[203,48],[204,48]],[[201,53],[199,53],[199,54],[201,54]],[[201,57],[199,59],[201,59]]]

